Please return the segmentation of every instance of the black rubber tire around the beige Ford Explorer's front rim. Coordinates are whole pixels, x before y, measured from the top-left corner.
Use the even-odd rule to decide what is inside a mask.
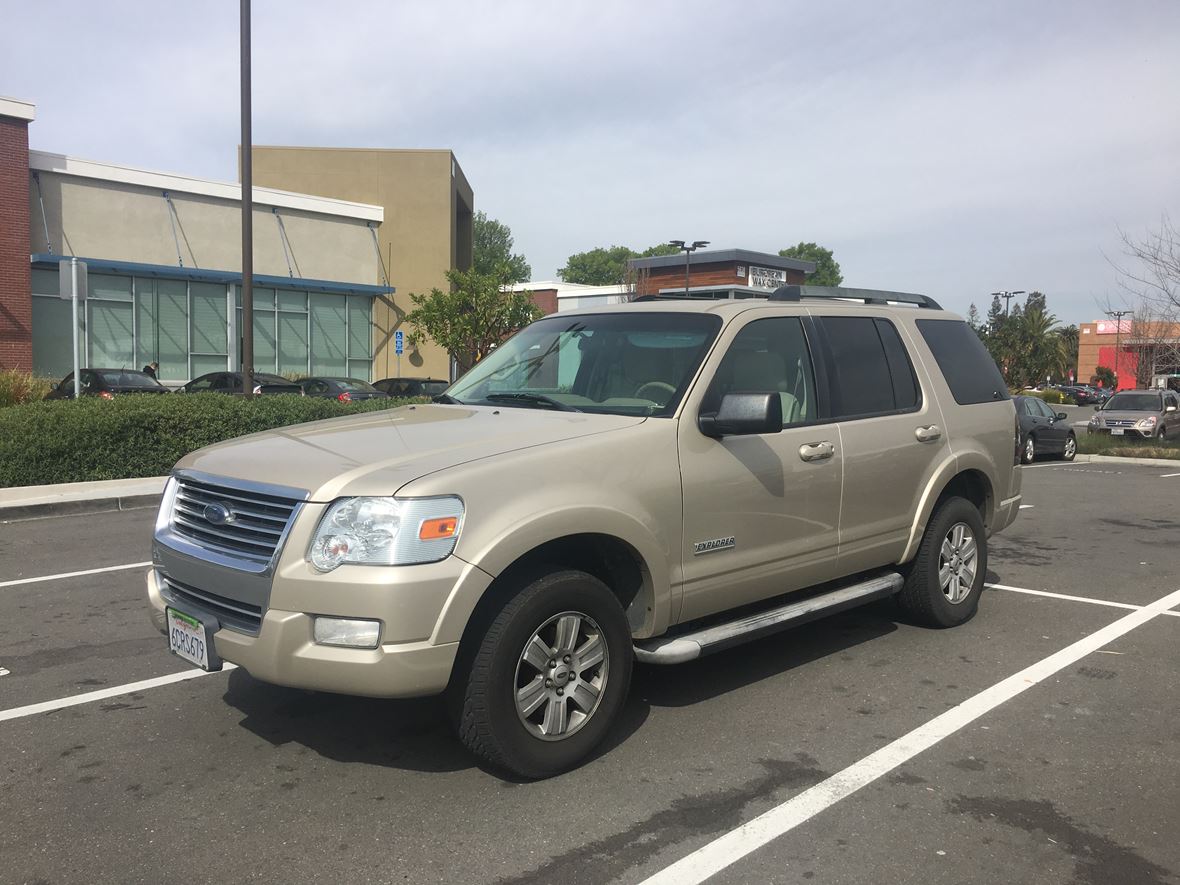
[[[597,629],[605,647],[605,674],[589,714],[575,704],[572,687],[584,673],[560,684],[560,701],[571,721],[568,736],[545,739],[537,725],[518,714],[517,690],[527,643],[546,624],[569,614]],[[556,630],[556,623],[553,625]],[[605,738],[627,700],[634,661],[631,632],[618,598],[601,581],[582,571],[553,571],[525,584],[492,620],[479,640],[467,674],[455,674],[455,726],[459,740],[491,765],[524,778],[549,778],[576,767]],[[569,670],[562,673],[566,677]],[[583,678],[589,684],[589,680]],[[545,684],[549,684],[546,682]],[[552,689],[557,691],[557,689]],[[548,693],[548,689],[546,689]],[[558,691],[558,694],[560,694]],[[550,697],[545,709],[556,699]],[[542,710],[544,712],[544,710]],[[583,716],[577,727],[572,717]],[[531,730],[532,729],[532,730]]]

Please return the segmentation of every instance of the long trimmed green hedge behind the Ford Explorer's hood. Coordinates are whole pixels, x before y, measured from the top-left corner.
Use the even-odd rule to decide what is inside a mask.
[[[197,393],[26,402],[0,409],[0,487],[158,477],[212,442],[422,401]]]

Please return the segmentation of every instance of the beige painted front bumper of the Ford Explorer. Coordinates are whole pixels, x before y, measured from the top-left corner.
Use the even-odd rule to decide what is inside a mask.
[[[163,632],[162,577],[157,569],[149,570],[146,577],[151,621]],[[264,682],[371,697],[439,694],[446,688],[459,649],[458,642],[384,642],[384,636],[375,649],[321,645],[313,641],[312,629],[309,614],[268,609],[256,636],[223,627],[212,642],[223,660]]]

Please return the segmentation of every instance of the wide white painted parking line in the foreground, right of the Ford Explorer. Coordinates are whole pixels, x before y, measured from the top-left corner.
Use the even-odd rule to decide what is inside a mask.
[[[972,695],[957,707],[952,707],[946,713],[918,726],[909,734],[898,738],[860,761],[853,762],[827,780],[820,781],[814,787],[805,789],[768,812],[730,830],[644,879],[642,885],[696,885],[696,883],[704,881],[763,845],[806,824],[820,812],[930,749],[999,704],[1012,700],[1066,667],[1100,650],[1120,636],[1142,627],[1156,615],[1167,612],[1176,604],[1180,604],[1180,590],[1123,615],[1114,623],[1107,624],[1060,651],[1025,667],[1020,673]]]

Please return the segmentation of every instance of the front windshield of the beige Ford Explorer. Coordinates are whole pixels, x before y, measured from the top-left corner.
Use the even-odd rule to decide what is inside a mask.
[[[464,404],[668,417],[721,328],[708,314],[538,320],[447,391]]]

